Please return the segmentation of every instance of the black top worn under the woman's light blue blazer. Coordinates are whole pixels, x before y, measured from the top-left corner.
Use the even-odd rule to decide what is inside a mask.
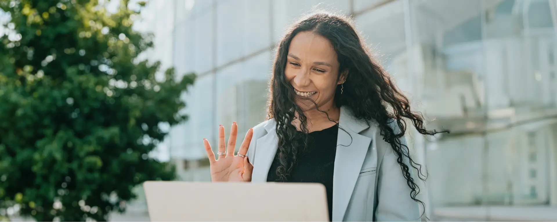
[[[325,185],[327,202],[329,204],[329,221],[333,221],[333,170],[335,167],[336,136],[339,128],[329,127],[322,131],[309,133],[310,142],[305,152],[299,151],[296,165],[286,182],[317,182]],[[303,141],[299,141],[303,144]],[[271,164],[267,175],[267,182],[278,181],[276,170],[278,149],[275,160]]]

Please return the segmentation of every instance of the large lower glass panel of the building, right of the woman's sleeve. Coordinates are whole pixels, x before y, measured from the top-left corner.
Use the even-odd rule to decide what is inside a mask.
[[[545,204],[550,189],[549,122],[428,144],[433,206]],[[487,144],[487,148],[484,148]]]

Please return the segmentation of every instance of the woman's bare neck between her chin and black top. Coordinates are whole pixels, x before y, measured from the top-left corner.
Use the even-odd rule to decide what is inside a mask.
[[[321,131],[332,127],[339,122],[340,108],[336,107],[334,103],[323,105],[319,107],[319,109],[323,110],[325,113],[317,109],[311,109],[304,112],[304,115],[307,118],[306,128],[309,132]],[[292,124],[294,124],[298,130],[301,130],[298,119],[292,121]]]

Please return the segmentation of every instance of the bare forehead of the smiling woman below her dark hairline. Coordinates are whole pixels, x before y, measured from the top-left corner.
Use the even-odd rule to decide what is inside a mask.
[[[327,38],[309,31],[297,33],[292,38],[288,51],[289,54],[309,62],[338,62],[331,42]]]

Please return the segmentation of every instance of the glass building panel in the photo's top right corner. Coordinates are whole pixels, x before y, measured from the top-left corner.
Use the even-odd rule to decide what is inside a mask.
[[[491,110],[554,107],[553,25],[548,1],[501,1],[485,21],[487,100]]]

